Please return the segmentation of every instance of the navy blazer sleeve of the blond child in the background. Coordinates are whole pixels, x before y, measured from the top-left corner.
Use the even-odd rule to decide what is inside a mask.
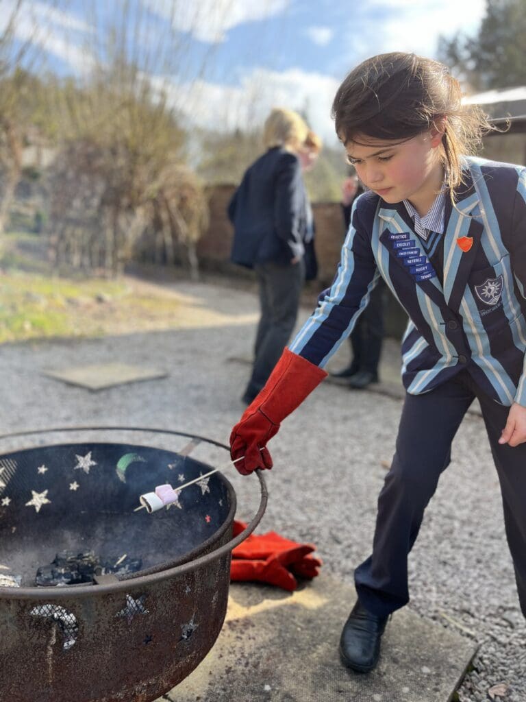
[[[290,258],[303,256],[302,216],[304,188],[302,167],[294,154],[286,153],[278,164],[274,227],[278,237],[288,245]]]

